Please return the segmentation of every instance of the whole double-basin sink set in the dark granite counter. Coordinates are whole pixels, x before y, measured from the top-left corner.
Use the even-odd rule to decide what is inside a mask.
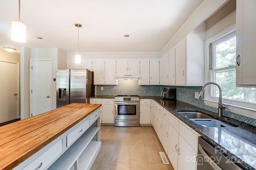
[[[200,112],[178,112],[179,114],[186,116],[196,124],[199,124],[204,127],[237,127],[237,126],[231,126],[229,124],[226,124],[220,120],[216,120],[210,116],[207,116]]]

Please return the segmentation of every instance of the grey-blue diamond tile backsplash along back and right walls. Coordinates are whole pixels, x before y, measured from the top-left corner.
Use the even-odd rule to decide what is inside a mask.
[[[101,90],[103,87],[104,90]],[[164,87],[175,87],[176,88],[176,99],[194,106],[198,106],[205,110],[210,110],[217,113],[218,109],[210,106],[206,106],[202,99],[195,98],[195,92],[200,92],[202,87],[195,86],[150,86],[138,84],[138,80],[118,80],[118,85],[98,85],[97,95],[140,95],[140,96],[160,96]],[[223,115],[240,122],[245,122],[256,126],[256,120],[241,116],[226,110],[223,111]]]

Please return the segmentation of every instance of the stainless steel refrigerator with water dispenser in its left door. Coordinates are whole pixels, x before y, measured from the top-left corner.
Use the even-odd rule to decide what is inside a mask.
[[[93,72],[88,69],[56,70],[56,107],[71,103],[89,103],[94,96]]]

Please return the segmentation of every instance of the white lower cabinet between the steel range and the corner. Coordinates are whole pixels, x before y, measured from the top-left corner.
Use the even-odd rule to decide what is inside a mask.
[[[151,123],[151,100],[140,99],[140,124]]]

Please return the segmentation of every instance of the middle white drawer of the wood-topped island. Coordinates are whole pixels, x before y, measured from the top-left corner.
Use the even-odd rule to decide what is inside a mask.
[[[67,147],[70,146],[77,138],[79,138],[90,127],[90,120],[87,119],[80,126],[67,135]]]

